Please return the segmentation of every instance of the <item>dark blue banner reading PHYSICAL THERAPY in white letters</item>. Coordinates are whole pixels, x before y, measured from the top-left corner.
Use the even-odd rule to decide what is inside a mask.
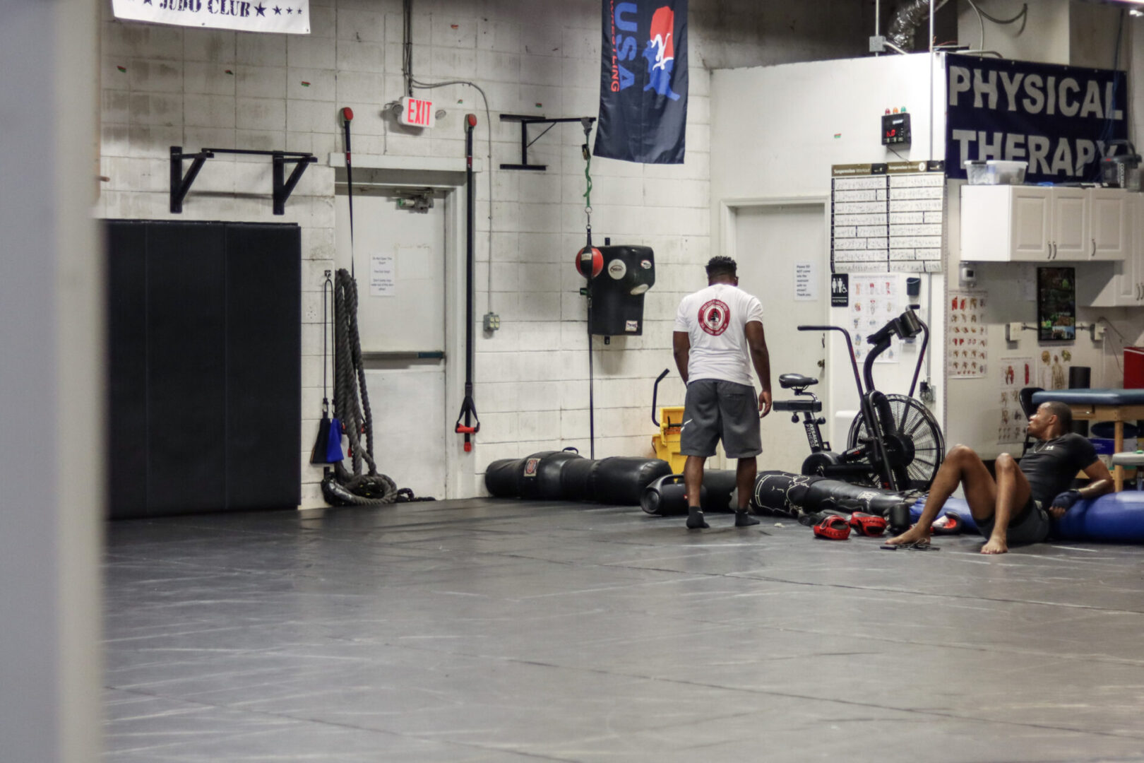
[[[946,75],[950,177],[1006,159],[1028,162],[1026,183],[1091,182],[1109,141],[1128,136],[1122,71],[950,55]]]

